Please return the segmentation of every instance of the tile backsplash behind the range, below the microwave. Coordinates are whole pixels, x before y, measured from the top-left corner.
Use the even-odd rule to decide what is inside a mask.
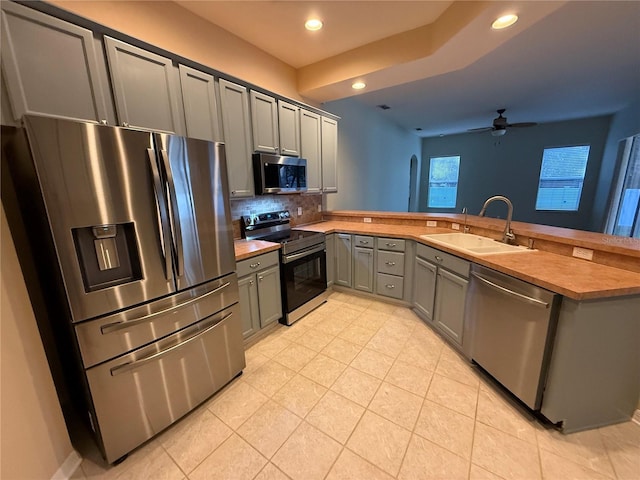
[[[322,220],[322,195],[292,194],[292,195],[260,195],[253,198],[231,199],[231,221],[233,223],[233,237],[240,238],[240,217],[256,213],[289,210],[291,226]],[[298,207],[302,208],[302,215],[298,216]]]

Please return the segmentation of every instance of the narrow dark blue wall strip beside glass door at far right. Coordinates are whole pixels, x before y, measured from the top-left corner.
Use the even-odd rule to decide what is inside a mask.
[[[609,195],[618,168],[618,145],[621,140],[640,134],[640,100],[632,103],[613,116],[607,145],[602,156],[600,178],[591,215],[590,230],[603,231],[607,220]]]

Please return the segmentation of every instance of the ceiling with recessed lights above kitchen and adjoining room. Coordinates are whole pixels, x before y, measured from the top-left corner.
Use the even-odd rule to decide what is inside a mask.
[[[355,98],[406,129],[421,128],[420,136],[490,126],[498,108],[510,123],[546,123],[614,113],[640,99],[639,1],[177,3],[298,69],[301,94],[315,101],[353,96],[360,72],[368,87]],[[428,55],[411,57],[413,46],[392,42],[412,29],[427,41],[442,35],[453,8],[473,15]],[[516,26],[485,28],[507,10],[519,13]],[[311,13],[325,23],[320,32],[302,26]],[[387,63],[372,67],[376,54]],[[389,62],[394,55],[402,60]],[[304,88],[314,72],[327,78]]]

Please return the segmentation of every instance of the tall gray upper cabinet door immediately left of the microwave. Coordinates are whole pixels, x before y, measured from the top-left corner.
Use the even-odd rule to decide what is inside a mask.
[[[220,107],[231,198],[252,197],[251,122],[247,89],[221,79]]]

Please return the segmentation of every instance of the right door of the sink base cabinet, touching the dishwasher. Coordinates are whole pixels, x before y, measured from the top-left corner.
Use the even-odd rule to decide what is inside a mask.
[[[468,280],[441,268],[438,269],[435,324],[460,346],[462,346],[464,304],[468,284]]]

